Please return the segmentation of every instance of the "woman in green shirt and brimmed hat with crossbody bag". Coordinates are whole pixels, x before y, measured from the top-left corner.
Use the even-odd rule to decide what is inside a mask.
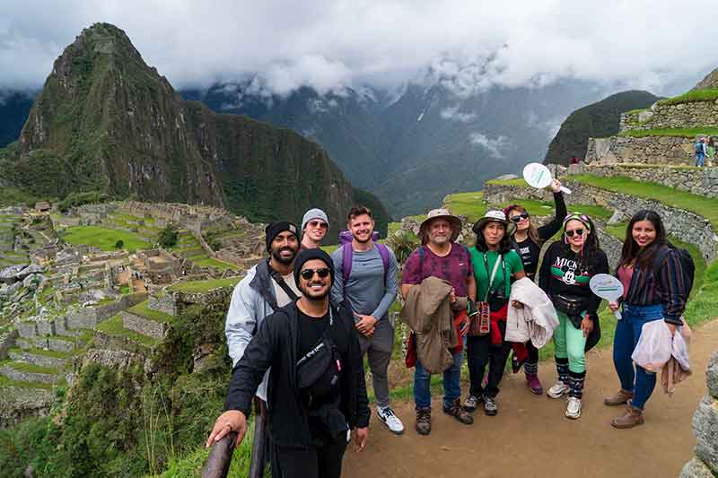
[[[514,225],[506,221],[501,211],[488,211],[474,224],[477,245],[468,249],[477,282],[477,300],[487,301],[491,310],[491,327],[488,335],[467,337],[468,377],[471,383],[464,409],[473,412],[481,402],[484,413],[498,413],[496,395],[503,377],[503,369],[512,344],[503,340],[506,333],[506,314],[511,295],[511,280],[526,277],[521,257],[512,248],[511,234]],[[522,307],[514,303],[513,307]],[[486,388],[481,382],[488,365]]]

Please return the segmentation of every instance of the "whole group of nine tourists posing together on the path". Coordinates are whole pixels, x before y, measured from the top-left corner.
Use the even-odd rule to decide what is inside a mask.
[[[255,430],[255,440],[263,440],[255,450],[264,448],[273,476],[340,476],[351,430],[358,449],[368,439],[364,355],[376,415],[401,434],[404,424],[391,408],[387,377],[397,326],[389,310],[398,293],[401,319],[412,331],[405,361],[415,369],[417,433],[432,430],[432,374],[442,374],[442,412],[460,423],[471,425],[477,410],[499,413],[510,357],[515,372],[523,369],[527,393],[567,395],[565,417],[579,419],[586,352],[600,339],[601,300],[589,282],[611,267],[594,222],[566,211],[560,186],[556,179],[550,186],[556,201],[551,221],[538,227],[520,204],[488,211],[473,224],[471,248],[457,240],[458,217],[431,211],[418,230],[421,246],[401,274],[394,252],[376,240],[366,207],[349,211],[331,256],[320,248],[329,229],[320,209],[308,211],[301,228],[269,224],[268,258],[232,293],[225,332],[234,369],[226,411],[207,446],[231,431],[240,442],[254,403],[266,411],[267,424],[267,433]],[[539,261],[542,246],[554,237]],[[661,320],[656,324],[664,323],[670,334],[682,325],[691,276],[681,252],[668,242],[658,213],[644,210],[631,218],[614,265],[624,293],[609,302],[621,312],[613,345],[620,386],[604,404],[625,407],[611,422],[617,429],[644,423],[656,385],[656,373],[632,360],[644,324]],[[556,383],[545,391],[538,350],[551,340]],[[469,387],[462,402],[464,357]]]

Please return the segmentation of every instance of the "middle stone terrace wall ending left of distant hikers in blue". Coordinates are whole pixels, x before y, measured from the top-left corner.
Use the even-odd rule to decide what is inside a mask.
[[[585,162],[693,165],[694,140],[671,136],[589,138]]]

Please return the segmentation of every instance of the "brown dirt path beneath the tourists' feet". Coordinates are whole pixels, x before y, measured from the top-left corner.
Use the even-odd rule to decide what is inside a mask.
[[[407,429],[399,437],[383,428],[372,410],[370,443],[361,454],[347,452],[342,476],[675,478],[696,444],[691,420],[706,393],[705,368],[716,349],[718,320],[694,331],[690,355],[695,375],[679,384],[672,397],[656,387],[645,424],[632,430],[613,429],[609,422],[620,408],[602,404],[603,396],[618,387],[610,348],[590,353],[577,421],[565,418],[564,400],[531,395],[522,374],[504,376],[499,414],[487,417],[477,411],[473,425],[442,413],[441,399],[434,397],[428,437],[414,430],[413,402],[394,404]],[[539,376],[545,387],[553,384],[553,361],[541,365]]]

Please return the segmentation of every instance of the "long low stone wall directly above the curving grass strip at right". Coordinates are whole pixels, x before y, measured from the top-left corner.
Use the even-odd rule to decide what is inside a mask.
[[[583,172],[603,177],[625,176],[637,181],[675,187],[700,196],[718,197],[718,168],[675,168],[616,164],[591,164]]]

